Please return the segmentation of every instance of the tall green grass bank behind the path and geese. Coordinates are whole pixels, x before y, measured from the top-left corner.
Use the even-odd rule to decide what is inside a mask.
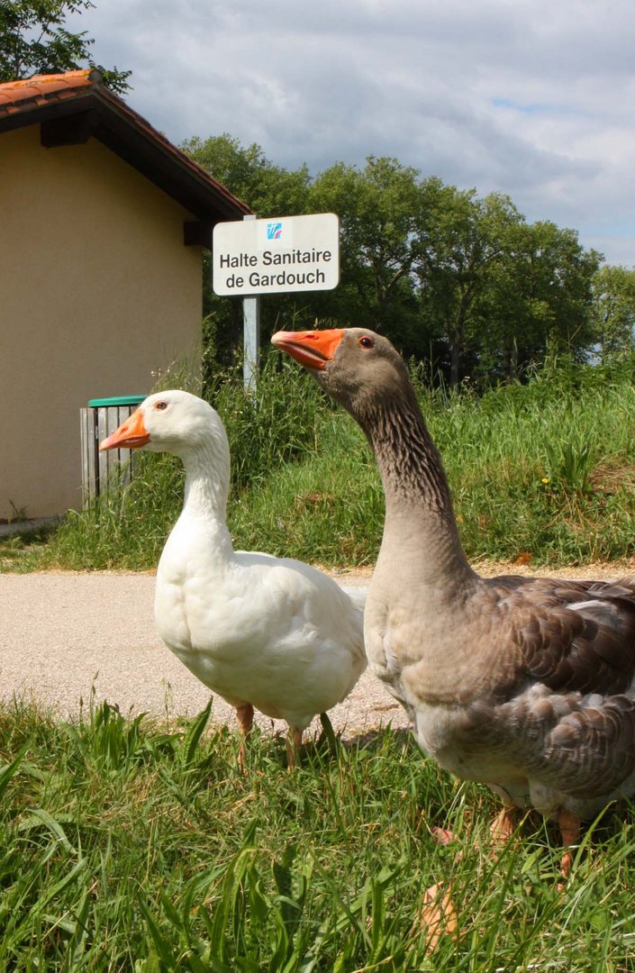
[[[547,366],[484,394],[432,389],[415,368],[471,559],[534,564],[635,556],[635,395],[629,371]],[[257,398],[220,375],[213,404],[232,450],[229,528],[237,548],[324,564],[372,563],[383,494],[364,436],[294,363],[267,359]],[[152,567],[181,506],[182,472],[139,457],[131,486],[70,514],[13,569]],[[0,563],[2,563],[0,552]]]

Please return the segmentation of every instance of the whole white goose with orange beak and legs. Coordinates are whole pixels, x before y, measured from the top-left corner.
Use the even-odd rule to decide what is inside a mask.
[[[149,396],[100,450],[172,452],[186,471],[183,511],[159,560],[159,634],[202,683],[236,708],[286,720],[294,765],[302,731],[364,671],[363,611],[299,560],[234,551],[226,523],[229,444],[218,413],[173,390]],[[244,744],[243,744],[244,745]]]

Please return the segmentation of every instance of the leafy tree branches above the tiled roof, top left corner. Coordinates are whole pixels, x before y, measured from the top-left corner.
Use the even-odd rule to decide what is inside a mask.
[[[85,30],[64,27],[68,14],[94,7],[90,0],[0,0],[0,82],[57,74],[82,66],[96,67],[104,84],[121,93],[129,89],[130,71],[95,64],[89,49],[94,40]]]

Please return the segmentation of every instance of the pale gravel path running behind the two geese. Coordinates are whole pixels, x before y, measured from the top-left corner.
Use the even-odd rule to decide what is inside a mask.
[[[483,574],[532,572],[517,565],[479,565]],[[554,573],[554,572],[550,572]],[[618,577],[614,565],[557,572],[568,577]],[[345,587],[366,587],[370,570],[335,572]],[[0,698],[34,699],[63,716],[81,701],[117,703],[123,713],[194,715],[209,691],[165,648],[155,630],[151,574],[0,574]],[[344,703],[331,711],[343,736],[391,722],[408,725],[402,707],[365,672]],[[233,724],[231,707],[216,698],[213,719]],[[277,731],[284,724],[260,717]],[[319,727],[319,723],[312,728]]]

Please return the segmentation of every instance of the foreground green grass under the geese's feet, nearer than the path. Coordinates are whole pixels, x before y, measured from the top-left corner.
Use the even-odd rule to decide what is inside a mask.
[[[408,735],[309,743],[289,774],[283,741],[256,734],[242,775],[208,715],[0,708],[0,968],[635,968],[630,811],[586,835],[561,895],[545,827],[493,859],[490,795]],[[460,842],[435,844],[433,824]],[[431,956],[418,917],[440,881],[460,925]]]

